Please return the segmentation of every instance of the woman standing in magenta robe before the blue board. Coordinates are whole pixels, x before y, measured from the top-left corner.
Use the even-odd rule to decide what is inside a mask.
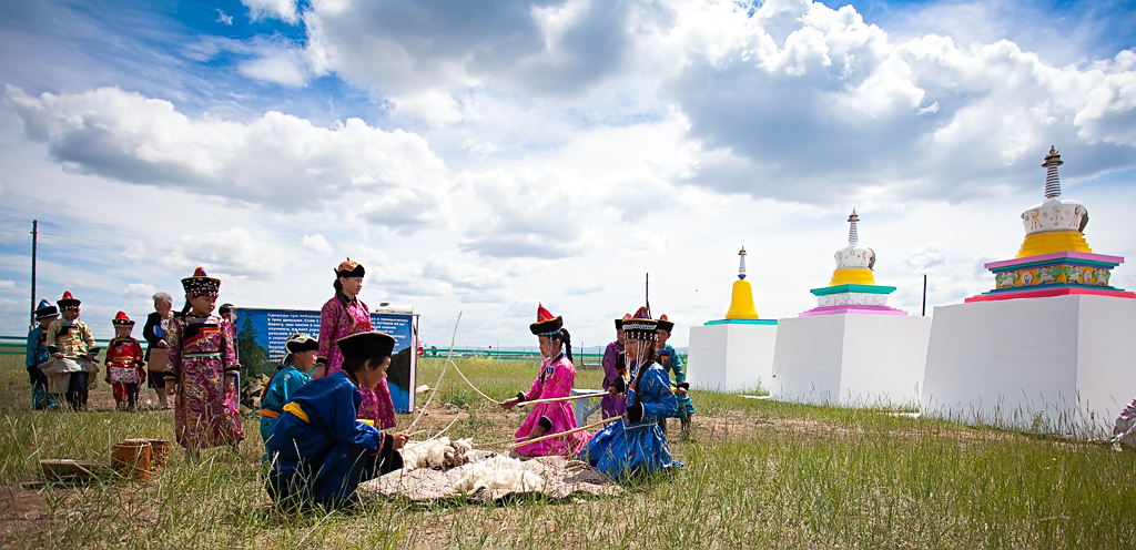
[[[362,266],[351,261],[351,258],[335,268],[335,295],[319,311],[319,355],[312,378],[341,370],[343,353],[335,342],[352,334],[370,332],[370,309],[359,299],[365,273]],[[394,427],[394,401],[391,400],[385,377],[374,389],[360,388],[359,393],[362,394],[359,418],[374,422],[379,430]]]

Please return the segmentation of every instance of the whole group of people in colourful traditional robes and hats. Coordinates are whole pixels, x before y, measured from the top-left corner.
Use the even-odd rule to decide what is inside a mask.
[[[334,272],[335,294],[320,310],[319,338],[290,338],[261,395],[266,485],[278,500],[351,500],[362,481],[402,467],[398,451],[409,436],[383,432],[395,426],[386,385],[394,339],[373,331],[370,311],[358,297],[364,267],[348,259]],[[244,440],[240,365],[233,323],[214,314],[220,281],[199,267],[182,285],[179,312],[169,294],[154,295],[156,311],[143,331],[145,352],[131,336],[134,322],[124,312],[115,317],[107,382],[123,408],[136,406],[147,381],[164,406],[173,395],[175,436],[191,456],[204,448],[235,448]],[[33,401],[49,408],[66,400],[82,409],[100,373],[99,350],[78,319],[80,301],[67,292],[57,305],[40,305],[40,326],[28,336]],[[502,402],[506,409],[534,402],[516,433],[524,443],[517,452],[579,458],[612,477],[680,468],[667,444],[666,419],[683,419],[685,435],[694,409],[682,361],[666,343],[673,327],[666,316],[650,319],[645,308],[616,322],[617,341],[604,355],[603,416],[618,418],[591,436],[576,425],[571,405],[557,400],[568,397],[575,383],[571,341],[563,319],[540,306],[531,325],[541,345],[540,372],[527,392]],[[668,370],[675,373],[674,384]]]

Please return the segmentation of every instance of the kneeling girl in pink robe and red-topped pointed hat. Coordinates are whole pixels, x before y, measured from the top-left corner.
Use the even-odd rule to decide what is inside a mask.
[[[566,398],[571,394],[576,381],[576,367],[571,363],[571,336],[563,328],[563,318],[552,317],[544,306],[536,308],[536,323],[528,326],[541,342],[541,374],[533,382],[528,393],[519,392],[517,397],[506,399],[501,407],[509,410],[524,401],[537,399]],[[517,442],[533,440],[544,435],[576,430],[576,415],[568,401],[540,403],[533,406],[525,423],[517,430]],[[544,457],[559,455],[574,457],[579,453],[588,440],[587,432],[576,432],[562,438],[552,438],[517,448],[523,457]]]

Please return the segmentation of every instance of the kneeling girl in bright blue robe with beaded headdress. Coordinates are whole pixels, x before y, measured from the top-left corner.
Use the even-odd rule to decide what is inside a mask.
[[[671,458],[667,436],[659,427],[661,418],[675,415],[677,405],[670,377],[655,361],[658,322],[648,318],[646,308],[640,308],[623,327],[630,382],[624,388],[620,377],[610,391],[625,395],[627,413],[595,434],[579,459],[612,478],[682,468],[682,463]]]

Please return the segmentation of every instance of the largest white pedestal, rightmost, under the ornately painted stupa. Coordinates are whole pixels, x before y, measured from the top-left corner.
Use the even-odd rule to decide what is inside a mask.
[[[1075,438],[1136,395],[1136,299],[1062,295],[935,308],[924,416]]]

